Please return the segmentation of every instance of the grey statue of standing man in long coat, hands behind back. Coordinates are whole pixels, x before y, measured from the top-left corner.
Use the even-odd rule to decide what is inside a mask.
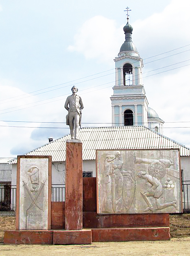
[[[81,110],[84,107],[81,97],[76,94],[78,92],[78,88],[74,85],[71,88],[71,91],[73,94],[68,96],[65,102],[65,108],[68,110],[66,124],[69,125],[70,128],[71,139],[78,140],[78,130],[81,125]]]

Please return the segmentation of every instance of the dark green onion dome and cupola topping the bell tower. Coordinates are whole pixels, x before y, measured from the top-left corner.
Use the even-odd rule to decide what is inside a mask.
[[[122,44],[120,48],[120,52],[127,52],[127,51],[137,52],[137,48],[135,47],[135,45],[131,40],[133,27],[129,24],[128,21],[127,21],[127,24],[123,27],[123,31],[125,32],[125,42]]]

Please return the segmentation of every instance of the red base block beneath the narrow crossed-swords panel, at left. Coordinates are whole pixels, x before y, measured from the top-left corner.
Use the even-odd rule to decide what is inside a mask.
[[[8,230],[4,232],[4,244],[52,244],[52,230]]]

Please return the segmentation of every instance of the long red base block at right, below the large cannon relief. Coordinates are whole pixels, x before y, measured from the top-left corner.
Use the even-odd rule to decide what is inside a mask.
[[[170,228],[92,228],[92,242],[170,240]]]

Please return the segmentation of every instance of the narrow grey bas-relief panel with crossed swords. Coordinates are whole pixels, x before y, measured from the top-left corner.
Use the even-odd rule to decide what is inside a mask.
[[[48,229],[48,158],[20,158],[20,230]]]

